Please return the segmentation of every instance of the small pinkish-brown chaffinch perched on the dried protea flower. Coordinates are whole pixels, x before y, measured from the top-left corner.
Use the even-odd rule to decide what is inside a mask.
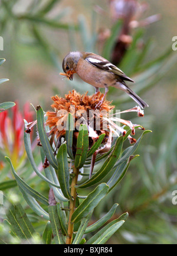
[[[96,93],[99,91],[99,88],[105,88],[105,93],[100,103],[103,102],[109,90],[108,87],[112,86],[122,89],[122,91],[129,94],[140,107],[148,107],[148,104],[124,82],[134,81],[107,59],[99,55],[87,52],[70,52],[63,59],[63,71],[64,73],[61,73],[61,75],[67,76],[70,80],[73,80],[74,73],[77,73],[83,81],[95,87]]]

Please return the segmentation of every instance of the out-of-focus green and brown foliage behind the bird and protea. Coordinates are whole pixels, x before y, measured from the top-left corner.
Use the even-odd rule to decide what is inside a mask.
[[[117,3],[116,13],[112,5]],[[129,4],[129,7],[126,5],[124,9],[124,4]],[[115,218],[129,212],[126,223],[109,244],[176,244],[177,206],[172,204],[172,191],[177,190],[177,55],[171,47],[172,37],[176,36],[176,8],[174,0],[1,0],[0,36],[4,39],[1,57],[6,59],[1,66],[1,78],[9,78],[9,81],[1,85],[0,102],[18,101],[14,112],[9,111],[9,116],[14,116],[17,123],[27,116],[31,120],[32,107],[31,110],[23,107],[27,101],[50,110],[49,95],[62,96],[74,88],[81,93],[94,92],[93,87],[80,81],[76,75],[73,82],[61,79],[61,63],[70,50],[98,53],[116,63],[136,81],[132,89],[149,104],[143,119],[135,117],[132,120],[132,115],[127,117],[153,133],[142,140],[136,151],[140,157],[130,165],[122,183],[114,188],[107,200],[101,201],[94,212],[93,222],[114,203],[119,203]],[[115,88],[109,90],[107,99],[113,100],[116,109],[134,106],[132,100]],[[22,137],[13,138],[14,123],[10,124],[8,117],[4,117],[5,120],[11,138],[11,142],[8,140],[10,147],[13,139],[22,140]],[[18,129],[16,125],[17,135],[20,134]],[[24,146],[19,145],[21,148],[16,149],[16,156],[12,159],[16,171],[46,196],[47,185],[32,172],[22,154]],[[11,156],[12,152],[0,146],[0,190],[12,203],[20,201],[40,233],[46,222],[35,215],[19,195],[17,183],[4,160],[4,155]],[[38,153],[35,158],[40,165]],[[9,237],[8,223],[5,226],[6,229],[0,223],[2,243],[18,242],[14,236]]]

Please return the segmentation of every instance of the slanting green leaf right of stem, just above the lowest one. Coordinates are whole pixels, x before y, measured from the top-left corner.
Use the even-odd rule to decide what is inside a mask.
[[[95,222],[94,224],[90,225],[86,231],[84,233],[90,233],[90,232],[93,232],[93,231],[96,231],[97,229],[99,229],[101,226],[103,226],[114,214],[114,212],[116,211],[117,209],[117,206],[119,204],[114,204],[112,206],[112,208],[109,210],[108,213],[106,213],[106,215],[104,215],[103,217],[101,217],[101,219],[97,220],[97,222]]]

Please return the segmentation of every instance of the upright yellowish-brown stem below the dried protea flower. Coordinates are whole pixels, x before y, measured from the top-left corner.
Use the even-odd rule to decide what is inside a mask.
[[[72,239],[73,239],[73,229],[74,229],[74,223],[71,222],[71,216],[73,215],[75,206],[76,206],[76,197],[77,197],[77,192],[76,192],[76,185],[77,185],[77,178],[79,174],[79,169],[76,167],[73,167],[73,178],[71,182],[71,196],[72,199],[70,200],[70,215],[68,219],[68,236],[66,240],[66,244],[71,244]]]

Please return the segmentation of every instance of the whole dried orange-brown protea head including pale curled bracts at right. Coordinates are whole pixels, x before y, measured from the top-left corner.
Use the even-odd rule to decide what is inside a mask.
[[[89,149],[99,136],[105,133],[102,141],[102,146],[97,153],[104,153],[109,151],[112,142],[112,136],[126,135],[126,130],[118,126],[116,123],[123,123],[124,126],[129,126],[132,130],[132,135],[135,135],[135,124],[132,122],[120,119],[115,114],[136,111],[139,116],[143,116],[143,111],[139,107],[131,108],[130,110],[113,113],[114,106],[104,99],[100,107],[97,104],[102,100],[104,94],[97,92],[94,95],[79,94],[75,90],[65,94],[65,97],[58,97],[58,95],[51,97],[54,103],[51,105],[53,111],[46,113],[46,126],[50,127],[49,136],[50,143],[55,143],[55,151],[61,145],[61,139],[65,137],[67,130],[68,113],[71,113],[74,120],[73,127],[73,155],[76,153],[77,136],[80,124],[86,124],[89,132]],[[116,122],[116,123],[115,123]],[[141,127],[143,129],[143,127]],[[130,135],[130,143],[136,142]]]

